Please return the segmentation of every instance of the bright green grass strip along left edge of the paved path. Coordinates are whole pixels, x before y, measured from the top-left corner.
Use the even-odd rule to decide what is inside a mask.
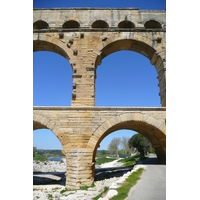
[[[118,194],[111,198],[111,200],[123,200],[128,196],[129,190],[133,187],[140,179],[143,168],[139,168],[136,172],[133,172],[123,183],[123,185],[117,189]]]

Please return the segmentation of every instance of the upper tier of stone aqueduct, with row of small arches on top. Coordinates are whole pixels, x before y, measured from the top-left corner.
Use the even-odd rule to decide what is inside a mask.
[[[34,9],[33,50],[53,51],[73,69],[72,106],[95,105],[97,66],[119,50],[138,52],[157,70],[166,106],[166,11],[135,8]]]

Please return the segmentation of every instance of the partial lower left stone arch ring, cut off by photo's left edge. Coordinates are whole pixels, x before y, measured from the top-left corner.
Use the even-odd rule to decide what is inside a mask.
[[[47,128],[51,130],[58,140],[60,141],[61,145],[64,146],[63,144],[63,137],[64,133],[62,129],[56,124],[55,121],[48,119],[47,117],[39,114],[33,114],[33,130],[41,129],[41,128]],[[66,138],[65,138],[65,143],[66,143]],[[64,153],[64,151],[62,151]]]

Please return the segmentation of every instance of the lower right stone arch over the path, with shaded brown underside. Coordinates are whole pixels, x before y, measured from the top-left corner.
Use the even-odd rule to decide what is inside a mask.
[[[143,134],[152,143],[158,159],[166,162],[166,126],[152,116],[142,113],[126,113],[105,121],[90,138],[87,147],[93,150],[93,162],[101,141],[110,133],[129,129]]]

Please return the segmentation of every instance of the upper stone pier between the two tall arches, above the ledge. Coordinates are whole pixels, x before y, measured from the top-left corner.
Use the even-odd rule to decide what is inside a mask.
[[[90,32],[71,33],[69,39],[70,64],[73,69],[72,106],[95,105],[95,57],[93,49],[98,37]]]

